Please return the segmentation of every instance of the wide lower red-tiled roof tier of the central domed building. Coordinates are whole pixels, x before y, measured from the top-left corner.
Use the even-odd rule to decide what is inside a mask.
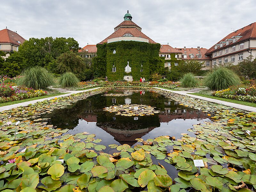
[[[139,31],[137,28],[119,28],[117,31],[112,33],[110,36],[108,36],[106,39],[101,41],[99,44],[107,43],[108,39],[112,39],[115,37],[122,37],[126,33],[130,33],[132,34],[132,36],[135,36],[135,37],[142,37],[142,38],[148,39],[149,43],[156,43],[155,41],[150,39],[148,36],[146,36],[144,33]]]

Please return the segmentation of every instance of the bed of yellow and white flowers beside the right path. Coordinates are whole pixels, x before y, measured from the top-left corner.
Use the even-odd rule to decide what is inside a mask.
[[[256,87],[252,85],[250,87],[234,87],[228,88],[213,93],[216,97],[234,99],[240,101],[247,101],[256,103]]]

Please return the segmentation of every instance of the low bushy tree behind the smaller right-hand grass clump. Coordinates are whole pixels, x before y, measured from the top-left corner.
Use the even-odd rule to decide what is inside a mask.
[[[183,74],[185,73],[198,74],[198,72],[201,71],[202,68],[204,68],[204,66],[198,60],[188,60],[188,61],[182,60],[177,66],[177,70]]]

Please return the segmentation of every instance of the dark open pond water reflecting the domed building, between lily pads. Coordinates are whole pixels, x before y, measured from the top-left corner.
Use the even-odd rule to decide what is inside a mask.
[[[133,104],[152,106],[160,112],[149,116],[120,116],[103,110],[106,107]],[[48,124],[57,128],[69,129],[66,134],[88,132],[95,134],[95,139],[102,139],[101,145],[128,144],[131,147],[141,144],[136,138],[147,140],[162,135],[180,138],[181,133],[194,137],[194,133],[188,132],[193,124],[211,122],[201,110],[179,105],[177,101],[165,98],[154,90],[136,88],[109,88],[106,92],[79,100],[67,108],[56,109],[42,118],[49,118]],[[116,150],[107,148],[104,152],[113,153]],[[156,164],[160,162],[154,157],[152,159]],[[166,164],[170,176],[177,176],[174,166],[163,160],[161,163]]]

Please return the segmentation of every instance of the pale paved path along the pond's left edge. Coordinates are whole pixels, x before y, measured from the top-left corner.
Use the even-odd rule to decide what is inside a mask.
[[[94,89],[98,89],[100,87],[96,87],[96,88],[92,88],[92,89],[86,89],[86,90],[81,90],[81,91],[68,91],[67,94],[64,94],[64,95],[58,95],[58,96],[53,96],[53,97],[47,97],[47,98],[44,98],[44,99],[38,99],[38,100],[32,100],[32,101],[27,101],[27,102],[23,102],[23,103],[17,103],[17,104],[13,104],[13,105],[7,105],[7,106],[3,106],[3,107],[0,107],[0,111],[4,111],[4,110],[9,110],[9,109],[12,109],[12,108],[16,108],[16,107],[21,107],[21,106],[27,106],[29,104],[33,104],[33,103],[36,103],[38,101],[44,101],[44,100],[48,100],[48,99],[54,99],[54,98],[58,98],[58,97],[67,97],[71,94],[74,94],[74,93],[81,93],[81,92],[86,92],[86,91],[91,91],[91,90],[94,90]]]

